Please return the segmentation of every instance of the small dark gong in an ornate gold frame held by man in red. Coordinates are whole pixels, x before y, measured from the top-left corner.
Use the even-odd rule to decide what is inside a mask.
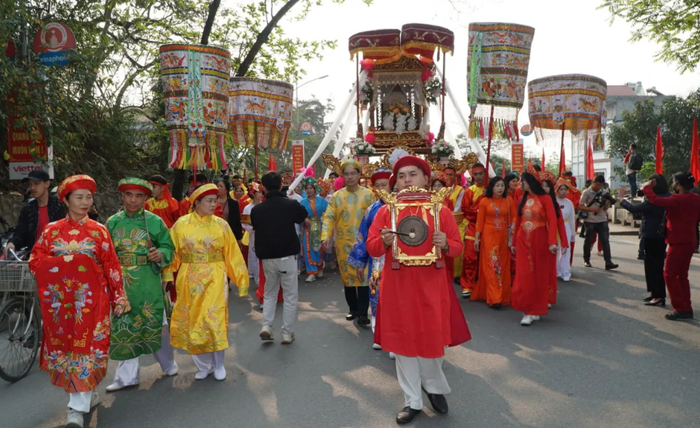
[[[433,234],[440,231],[442,201],[450,190],[429,192],[409,187],[397,194],[378,192],[386,203],[390,223],[387,226],[396,234],[391,247],[391,269],[404,266],[430,266],[444,268],[440,248],[433,245]]]

